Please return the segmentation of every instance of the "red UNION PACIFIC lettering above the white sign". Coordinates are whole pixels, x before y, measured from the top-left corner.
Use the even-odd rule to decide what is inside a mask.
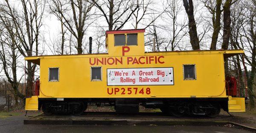
[[[164,56],[142,56],[142,57],[102,57],[89,58],[90,65],[122,65],[123,63],[130,64],[163,64]]]

